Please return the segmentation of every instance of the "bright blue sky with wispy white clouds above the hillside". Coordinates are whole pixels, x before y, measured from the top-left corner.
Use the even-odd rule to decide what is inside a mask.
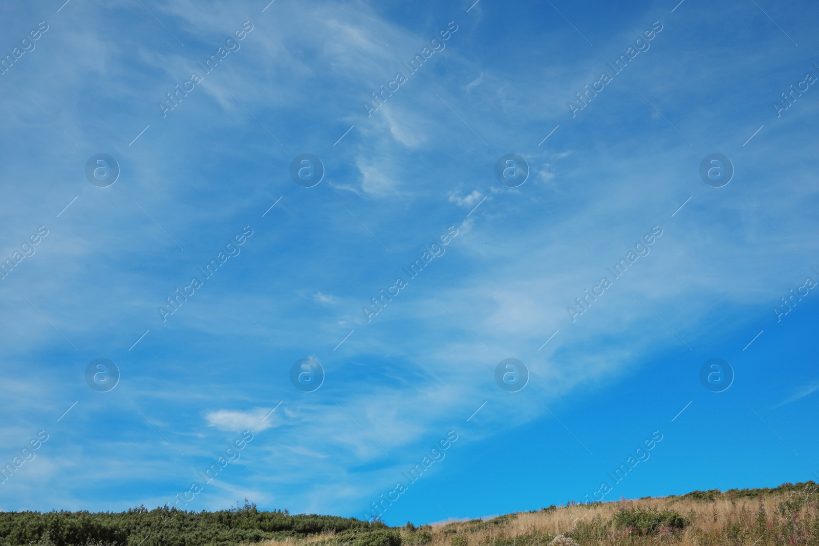
[[[819,76],[817,5],[17,3],[0,8],[0,53],[19,55],[0,75],[2,259],[48,235],[0,280],[0,462],[48,440],[0,485],[3,510],[171,504],[245,430],[185,508],[364,517],[449,431],[387,523],[581,501],[604,481],[612,500],[819,479],[819,296],[772,310],[819,282],[819,91],[802,83]],[[314,187],[289,174],[305,153],[326,171]],[[495,178],[509,153],[519,187]],[[714,153],[735,169],[724,187],[699,176]],[[97,154],[120,166],[109,187],[85,176]],[[107,392],[85,379],[101,358],[120,371]],[[509,358],[523,390],[495,383]],[[714,358],[735,376],[722,392],[699,381]],[[290,381],[301,359],[323,367],[318,390]]]

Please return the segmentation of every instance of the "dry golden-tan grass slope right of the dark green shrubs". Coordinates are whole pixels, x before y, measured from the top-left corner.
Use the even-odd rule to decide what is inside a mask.
[[[695,491],[382,532],[394,535],[378,540],[384,546],[819,546],[819,488],[807,482],[771,490]],[[261,546],[339,546],[342,539],[324,535]],[[376,546],[368,542],[351,541]]]

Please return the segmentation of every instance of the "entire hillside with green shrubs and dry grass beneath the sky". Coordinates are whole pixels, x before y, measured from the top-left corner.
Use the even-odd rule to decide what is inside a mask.
[[[441,526],[384,524],[252,504],[221,512],[0,512],[0,546],[819,546],[819,488],[694,491],[541,508]]]

